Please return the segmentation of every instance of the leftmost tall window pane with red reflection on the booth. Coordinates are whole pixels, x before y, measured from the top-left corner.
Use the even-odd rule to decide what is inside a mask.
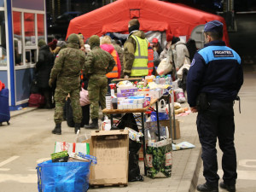
[[[15,47],[15,66],[23,65],[23,46],[22,46],[22,32],[21,32],[21,13],[13,11],[14,22],[14,47]]]

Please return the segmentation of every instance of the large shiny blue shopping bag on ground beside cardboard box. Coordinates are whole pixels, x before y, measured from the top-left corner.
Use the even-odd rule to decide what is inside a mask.
[[[86,192],[89,188],[90,162],[38,164],[39,192]]]

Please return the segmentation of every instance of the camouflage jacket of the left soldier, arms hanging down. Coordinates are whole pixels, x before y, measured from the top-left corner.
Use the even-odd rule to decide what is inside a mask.
[[[67,44],[67,48],[61,49],[56,55],[50,79],[57,79],[57,86],[79,85],[84,61],[85,54],[79,49],[79,44]]]

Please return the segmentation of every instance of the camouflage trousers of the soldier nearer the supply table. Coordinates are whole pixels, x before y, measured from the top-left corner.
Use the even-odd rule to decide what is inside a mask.
[[[104,76],[92,76],[88,83],[90,99],[90,119],[99,118],[99,102],[102,109],[106,108],[106,94],[108,91],[108,78]]]

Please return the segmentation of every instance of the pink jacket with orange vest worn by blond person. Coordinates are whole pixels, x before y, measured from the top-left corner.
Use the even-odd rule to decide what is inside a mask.
[[[100,47],[103,50],[106,50],[110,55],[112,55],[114,61],[116,61],[116,66],[113,67],[112,72],[113,71],[117,71],[118,75],[115,76],[115,75],[113,75],[111,73],[108,73],[107,77],[108,78],[120,78],[120,75],[121,75],[121,64],[120,64],[119,55],[118,55],[117,51],[113,48],[112,44],[101,44]]]

